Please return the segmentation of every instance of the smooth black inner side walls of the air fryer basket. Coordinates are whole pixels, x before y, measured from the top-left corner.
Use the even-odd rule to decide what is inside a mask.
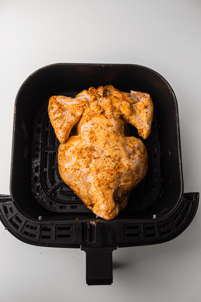
[[[28,217],[50,219],[68,215],[91,217],[93,213],[54,213],[43,208],[31,188],[33,124],[37,110],[51,95],[62,91],[82,91],[91,86],[112,84],[120,91],[149,93],[158,121],[161,191],[145,212],[122,212],[117,219],[149,219],[164,207],[172,210],[183,192],[177,103],[165,80],[154,71],[137,65],[55,64],[32,74],[16,98],[16,114],[11,163],[11,196]],[[164,213],[165,215],[165,213]]]

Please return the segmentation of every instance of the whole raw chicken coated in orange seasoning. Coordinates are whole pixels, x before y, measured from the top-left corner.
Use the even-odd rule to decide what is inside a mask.
[[[117,217],[148,169],[146,147],[136,137],[126,137],[124,127],[130,123],[141,137],[149,136],[150,95],[120,92],[112,85],[90,87],[75,98],[52,96],[48,112],[61,143],[61,178],[96,215]]]

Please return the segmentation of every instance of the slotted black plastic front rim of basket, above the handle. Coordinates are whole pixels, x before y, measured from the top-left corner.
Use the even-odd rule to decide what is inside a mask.
[[[104,224],[104,227],[108,225],[108,233],[113,232],[116,246],[140,246],[162,243],[182,233],[193,220],[198,201],[199,193],[183,194],[177,207],[165,218],[160,219],[159,213],[156,219],[134,223],[132,220],[125,222],[94,218],[50,222],[27,219],[17,211],[8,195],[6,198],[5,195],[0,195],[0,218],[5,228],[15,237],[33,245],[80,248],[81,244],[86,243],[93,248],[93,243],[96,246],[99,242],[99,238],[96,238],[97,229],[101,230]]]

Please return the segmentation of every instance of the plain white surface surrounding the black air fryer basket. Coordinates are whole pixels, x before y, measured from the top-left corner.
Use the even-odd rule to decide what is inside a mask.
[[[0,194],[10,194],[17,91],[52,63],[131,63],[164,76],[178,101],[184,192],[201,191],[200,21],[198,0],[1,0]],[[111,286],[86,285],[80,249],[30,246],[0,223],[0,302],[200,302],[200,215],[170,242],[114,251]]]

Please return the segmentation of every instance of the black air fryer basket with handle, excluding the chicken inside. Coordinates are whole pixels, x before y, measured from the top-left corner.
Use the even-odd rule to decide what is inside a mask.
[[[58,173],[59,142],[50,124],[50,96],[75,97],[91,86],[112,84],[122,92],[149,93],[154,104],[147,140],[149,168],[117,218],[89,210]],[[177,100],[168,82],[144,66],[59,63],[34,72],[15,101],[9,195],[0,195],[0,219],[21,241],[37,246],[81,248],[86,283],[112,283],[112,252],[163,243],[181,234],[196,214],[199,193],[183,193]]]

